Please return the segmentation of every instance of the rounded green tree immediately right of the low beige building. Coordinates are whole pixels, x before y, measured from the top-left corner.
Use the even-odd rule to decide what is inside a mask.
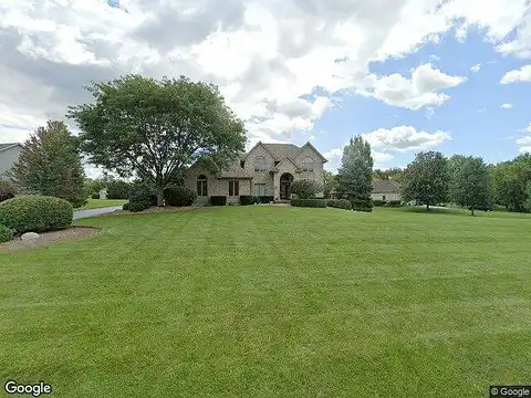
[[[438,151],[419,153],[402,178],[404,200],[417,200],[429,207],[448,198],[450,172],[448,159]]]

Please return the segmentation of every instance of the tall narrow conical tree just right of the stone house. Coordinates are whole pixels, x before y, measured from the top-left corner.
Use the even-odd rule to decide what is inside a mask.
[[[371,202],[373,191],[373,157],[371,145],[361,136],[351,138],[343,149],[341,167],[337,171],[337,192],[341,197]]]

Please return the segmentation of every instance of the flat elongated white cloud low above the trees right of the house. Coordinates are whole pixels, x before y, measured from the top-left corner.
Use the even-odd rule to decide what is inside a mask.
[[[437,130],[435,133],[417,132],[412,126],[398,126],[391,129],[379,128],[372,133],[363,134],[373,148],[383,150],[423,150],[438,146],[451,139],[449,133]]]

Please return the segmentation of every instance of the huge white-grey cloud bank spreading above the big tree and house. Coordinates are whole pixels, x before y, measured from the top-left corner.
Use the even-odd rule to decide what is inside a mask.
[[[185,74],[218,84],[251,140],[289,140],[334,105],[324,96],[365,91],[419,109],[448,101],[439,91],[465,78],[429,64],[410,77],[376,77],[371,61],[406,56],[452,29],[460,38],[479,29],[519,56],[531,43],[527,0],[121,1],[123,9],[106,0],[0,0],[0,125],[15,118],[33,130],[63,117],[67,105],[91,100],[82,90],[90,81]],[[301,100],[315,87],[322,100]]]

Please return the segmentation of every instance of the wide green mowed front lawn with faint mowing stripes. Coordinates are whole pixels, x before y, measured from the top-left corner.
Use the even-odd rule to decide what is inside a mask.
[[[0,252],[0,373],[56,397],[486,397],[530,381],[531,218],[205,208]]]

